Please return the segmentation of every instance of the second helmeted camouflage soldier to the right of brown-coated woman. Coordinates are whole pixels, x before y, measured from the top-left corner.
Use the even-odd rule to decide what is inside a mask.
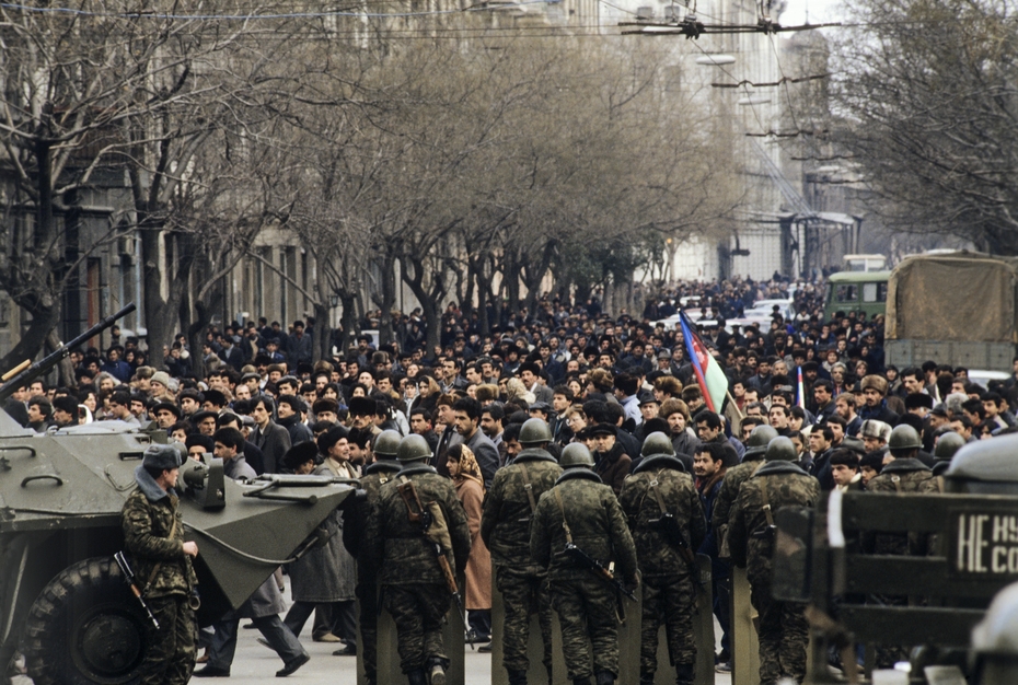
[[[563,654],[574,685],[590,685],[591,652],[598,685],[613,685],[618,674],[618,596],[562,552],[572,542],[605,568],[614,560],[617,576],[639,585],[636,547],[614,491],[591,471],[593,457],[587,446],[569,444],[559,464],[565,473],[534,512],[531,556],[548,569],[552,606],[562,624]]]

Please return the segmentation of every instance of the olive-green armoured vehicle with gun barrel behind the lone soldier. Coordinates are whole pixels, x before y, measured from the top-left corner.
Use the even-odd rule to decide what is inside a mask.
[[[72,346],[8,374],[0,400]],[[0,411],[0,681],[10,682],[21,652],[36,685],[137,682],[149,618],[114,555],[124,548],[120,510],[135,468],[146,448],[165,441],[162,430],[122,421],[36,433]],[[320,542],[320,524],[356,492],[356,481],[326,476],[235,483],[207,457],[186,460],[177,486],[185,538],[199,548],[203,625]]]

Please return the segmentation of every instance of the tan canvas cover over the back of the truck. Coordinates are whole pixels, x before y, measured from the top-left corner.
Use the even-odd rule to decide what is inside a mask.
[[[958,252],[916,255],[888,282],[891,340],[1016,342],[1018,258]]]

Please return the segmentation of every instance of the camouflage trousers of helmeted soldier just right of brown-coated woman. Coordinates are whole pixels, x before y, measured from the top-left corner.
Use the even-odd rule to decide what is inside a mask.
[[[552,673],[552,604],[547,577],[516,573],[506,567],[495,569],[495,583],[502,595],[506,623],[502,627],[502,663],[507,671],[527,671],[530,660],[530,617],[537,615],[544,641],[544,667]]]

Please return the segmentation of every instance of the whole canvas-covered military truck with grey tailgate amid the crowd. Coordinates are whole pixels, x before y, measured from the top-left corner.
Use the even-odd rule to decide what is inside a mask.
[[[888,282],[884,353],[899,368],[927,359],[1010,371],[1018,342],[1018,258],[975,252],[901,262]]]

